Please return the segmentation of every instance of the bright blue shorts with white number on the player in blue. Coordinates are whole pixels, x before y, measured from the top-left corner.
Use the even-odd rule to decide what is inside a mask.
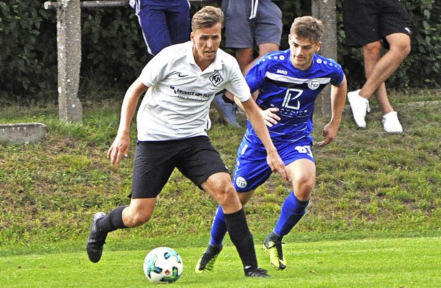
[[[311,152],[312,139],[306,137],[295,143],[274,143],[278,154],[285,165],[298,159],[314,161]],[[256,189],[271,176],[271,168],[267,163],[267,151],[258,147],[243,137],[237,151],[236,166],[233,173],[233,185],[237,192],[249,192]]]

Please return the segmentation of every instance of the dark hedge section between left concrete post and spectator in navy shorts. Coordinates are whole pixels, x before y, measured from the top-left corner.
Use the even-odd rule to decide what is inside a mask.
[[[128,6],[91,8],[83,9],[81,17],[81,75],[127,88],[151,57],[134,11]]]

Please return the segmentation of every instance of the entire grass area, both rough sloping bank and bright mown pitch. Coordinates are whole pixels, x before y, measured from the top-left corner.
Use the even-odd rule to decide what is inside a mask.
[[[260,265],[271,279],[245,279],[228,240],[212,274],[195,274],[216,203],[178,172],[158,197],[152,220],[112,232],[103,259],[85,254],[90,221],[128,203],[132,156],[112,166],[121,99],[83,101],[83,123],[58,120],[50,103],[0,107],[0,123],[41,122],[43,141],[0,143],[0,287],[145,287],[145,254],[176,249],[184,274],[174,287],[440,287],[441,92],[391,93],[403,134],[382,131],[376,101],[367,129],[345,111],[338,137],[314,147],[317,183],[307,214],[285,237],[288,268],[273,271],[260,243],[290,187],[274,175],[245,207]],[[209,131],[232,169],[243,128]],[[243,121],[243,119],[242,119]],[[326,117],[314,118],[314,142]],[[134,125],[135,126],[135,125]],[[132,142],[135,141],[133,127]]]

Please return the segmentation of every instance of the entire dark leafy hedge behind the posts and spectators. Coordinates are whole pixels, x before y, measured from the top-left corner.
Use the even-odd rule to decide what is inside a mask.
[[[345,68],[351,89],[360,87],[365,76],[361,49],[345,46],[342,1],[337,0],[338,61]],[[276,3],[283,11],[281,48],[286,49],[292,20],[311,13],[311,0]],[[405,4],[412,19],[412,52],[388,80],[388,87],[439,87],[441,6],[436,6],[435,0],[408,0]],[[192,2],[192,12],[202,5]],[[125,90],[150,59],[132,8],[83,8],[81,25],[80,94],[96,85]],[[0,105],[56,100],[57,12],[45,10],[43,1],[0,1],[0,63]]]

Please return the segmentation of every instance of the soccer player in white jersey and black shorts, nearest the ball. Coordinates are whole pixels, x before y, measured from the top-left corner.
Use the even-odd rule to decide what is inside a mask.
[[[218,49],[223,13],[205,6],[192,18],[191,41],[169,46],[145,65],[127,90],[116,138],[107,152],[112,164],[128,156],[130,123],[141,94],[136,117],[138,142],[134,159],[130,205],[98,212],[92,220],[86,249],[97,263],[109,232],[146,223],[156,196],[177,167],[195,185],[218,202],[225,214],[227,231],[242,260],[245,276],[267,277],[258,268],[253,236],[232,185],[228,169],[207,136],[209,105],[216,92],[227,89],[245,107],[245,113],[267,150],[271,169],[287,178],[285,165],[271,141],[263,116],[249,92],[233,56]]]

